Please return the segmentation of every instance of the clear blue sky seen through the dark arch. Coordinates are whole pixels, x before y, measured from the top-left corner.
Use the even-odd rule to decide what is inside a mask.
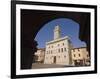
[[[46,42],[54,39],[54,28],[57,25],[61,29],[61,37],[68,36],[73,47],[86,46],[86,43],[79,39],[79,24],[71,19],[59,18],[44,24],[37,33],[35,40],[38,43],[38,48],[45,48]]]

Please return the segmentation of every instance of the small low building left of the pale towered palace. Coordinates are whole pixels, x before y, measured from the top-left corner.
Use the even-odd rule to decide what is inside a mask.
[[[35,52],[35,55],[34,55],[35,63],[43,63],[44,55],[45,55],[45,48],[39,48],[37,52]]]

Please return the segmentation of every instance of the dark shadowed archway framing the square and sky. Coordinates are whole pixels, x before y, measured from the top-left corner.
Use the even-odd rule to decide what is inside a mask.
[[[39,30],[44,24],[57,18],[69,18],[79,23],[79,39],[87,44],[87,50],[90,52],[90,13],[22,9],[21,69],[31,68],[33,54],[37,50],[37,42],[34,38]]]

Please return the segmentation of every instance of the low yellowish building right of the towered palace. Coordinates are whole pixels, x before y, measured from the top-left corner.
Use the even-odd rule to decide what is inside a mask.
[[[90,57],[86,47],[73,48],[71,54],[74,66],[90,65]]]

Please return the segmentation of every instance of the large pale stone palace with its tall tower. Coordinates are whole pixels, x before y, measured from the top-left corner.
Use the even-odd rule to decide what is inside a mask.
[[[54,40],[46,42],[44,64],[71,65],[71,42],[60,36],[60,27],[54,29]]]

